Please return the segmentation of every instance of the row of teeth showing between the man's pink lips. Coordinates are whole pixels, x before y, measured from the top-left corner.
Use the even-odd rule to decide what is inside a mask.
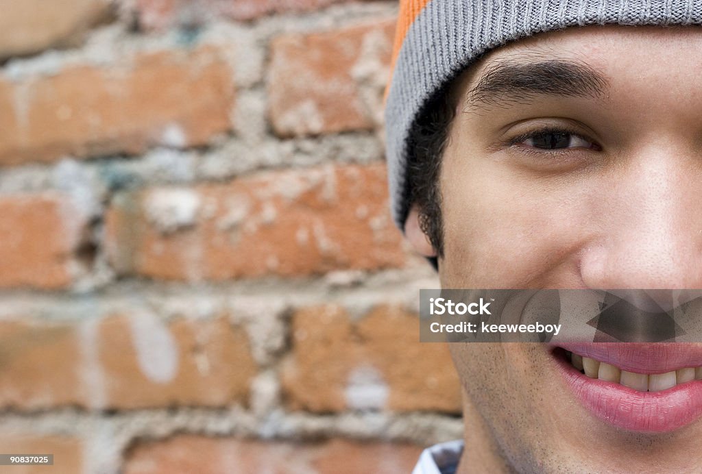
[[[694,380],[702,380],[702,367],[685,367],[683,369],[665,372],[665,374],[649,375],[627,372],[614,365],[570,352],[568,352],[566,356],[577,370],[585,372],[585,375],[591,379],[600,379],[622,384],[623,386],[642,392],[668,390],[668,388],[673,388],[676,385],[686,384]]]

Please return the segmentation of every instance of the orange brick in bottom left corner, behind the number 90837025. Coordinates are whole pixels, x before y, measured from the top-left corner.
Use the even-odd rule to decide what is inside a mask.
[[[12,466],[8,474],[77,474],[83,472],[81,442],[67,436],[17,435],[0,436],[3,454],[53,454],[53,466]]]

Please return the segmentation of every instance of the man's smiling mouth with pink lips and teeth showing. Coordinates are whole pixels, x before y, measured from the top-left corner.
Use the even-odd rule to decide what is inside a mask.
[[[702,418],[702,344],[551,347],[564,388],[609,426],[663,433]]]

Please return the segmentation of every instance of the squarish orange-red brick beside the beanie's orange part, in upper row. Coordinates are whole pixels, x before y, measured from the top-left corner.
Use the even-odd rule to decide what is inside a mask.
[[[275,132],[289,137],[377,126],[394,31],[395,22],[385,21],[275,39],[268,88]],[[373,82],[370,101],[362,95],[364,81]]]

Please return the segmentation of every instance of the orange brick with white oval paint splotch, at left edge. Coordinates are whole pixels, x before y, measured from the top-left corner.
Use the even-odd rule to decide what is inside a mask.
[[[0,323],[0,407],[248,402],[257,367],[243,329],[225,318],[166,325],[144,318],[106,318],[93,336],[69,323]]]

